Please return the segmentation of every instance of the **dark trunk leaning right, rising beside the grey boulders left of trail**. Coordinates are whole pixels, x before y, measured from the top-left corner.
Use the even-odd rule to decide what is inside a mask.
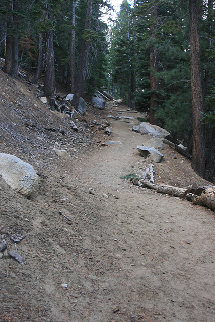
[[[82,41],[82,49],[81,49],[81,55],[79,59],[78,74],[76,78],[73,100],[71,101],[71,105],[73,105],[75,109],[77,109],[79,105],[79,99],[80,99],[81,93],[84,91],[84,83],[85,83],[84,69],[86,68],[86,65],[87,65],[88,52],[90,47],[88,30],[90,29],[90,25],[91,25],[91,17],[90,17],[91,12],[92,12],[92,0],[88,0],[87,13],[86,13],[86,19],[85,19],[85,29],[84,29],[84,35],[83,35],[83,41]]]

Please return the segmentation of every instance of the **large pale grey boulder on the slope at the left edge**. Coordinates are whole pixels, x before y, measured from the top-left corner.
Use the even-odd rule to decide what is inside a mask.
[[[25,197],[37,188],[38,176],[32,165],[14,155],[0,153],[0,174],[13,190]]]

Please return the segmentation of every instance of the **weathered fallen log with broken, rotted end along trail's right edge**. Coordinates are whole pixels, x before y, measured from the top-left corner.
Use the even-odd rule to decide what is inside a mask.
[[[215,211],[215,186],[202,186],[194,188],[188,186],[185,188],[173,187],[168,185],[155,185],[146,179],[133,180],[134,184],[140,187],[147,187],[156,190],[158,193],[168,194],[192,201],[195,204],[203,205]]]

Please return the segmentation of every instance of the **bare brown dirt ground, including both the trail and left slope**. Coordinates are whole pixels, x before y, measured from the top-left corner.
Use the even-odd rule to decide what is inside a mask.
[[[214,212],[120,178],[148,165],[136,146],[149,137],[107,118],[127,107],[88,105],[76,133],[30,83],[0,71],[0,87],[1,153],[39,174],[28,199],[0,178],[8,251],[15,250],[13,233],[26,236],[16,245],[25,265],[0,258],[0,321],[213,322]],[[101,146],[113,140],[122,144]],[[155,183],[207,183],[171,147],[162,153]]]

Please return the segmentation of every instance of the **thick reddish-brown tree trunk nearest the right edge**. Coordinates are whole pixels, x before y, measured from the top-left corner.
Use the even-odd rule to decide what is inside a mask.
[[[203,177],[205,169],[205,129],[202,122],[204,102],[201,81],[199,41],[199,0],[189,0],[190,28],[190,77],[193,111],[193,158],[194,171]]]

